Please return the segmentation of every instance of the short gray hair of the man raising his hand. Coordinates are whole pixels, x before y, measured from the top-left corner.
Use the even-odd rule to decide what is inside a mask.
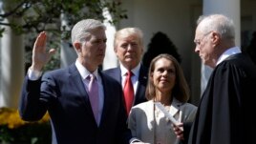
[[[71,31],[72,44],[75,41],[81,42],[85,36],[89,35],[90,31],[96,29],[106,30],[103,23],[95,19],[83,19],[75,24]]]

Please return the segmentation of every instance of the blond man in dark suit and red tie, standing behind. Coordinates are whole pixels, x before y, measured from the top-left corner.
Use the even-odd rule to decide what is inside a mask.
[[[145,89],[148,73],[147,69],[140,63],[143,50],[143,34],[139,28],[124,28],[117,31],[114,40],[114,51],[117,54],[119,66],[117,68],[104,71],[104,73],[117,79],[123,89],[125,87],[125,79],[127,77],[126,73],[128,71],[133,72],[132,83],[134,98],[132,105],[128,106],[127,103],[124,104],[126,105],[127,113],[130,112],[132,106],[146,101]]]

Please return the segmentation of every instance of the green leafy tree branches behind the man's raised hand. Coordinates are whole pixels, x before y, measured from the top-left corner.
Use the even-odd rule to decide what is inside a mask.
[[[108,10],[112,15],[113,19],[108,20],[111,24],[127,18],[126,10],[121,10],[121,3],[115,0],[2,0],[2,2],[0,26],[10,26],[17,34],[26,33],[28,53],[32,51],[34,42],[31,40],[32,36],[35,38],[40,31],[51,33],[50,47],[59,51],[61,40],[69,40],[71,28],[81,19],[107,20],[102,14],[103,10]],[[8,23],[4,21],[6,18],[9,20]],[[16,22],[16,18],[21,18],[22,23]],[[4,28],[0,28],[0,37],[4,31]],[[31,56],[26,57],[26,63],[31,63]],[[47,69],[58,68],[59,64],[59,53],[57,53]]]

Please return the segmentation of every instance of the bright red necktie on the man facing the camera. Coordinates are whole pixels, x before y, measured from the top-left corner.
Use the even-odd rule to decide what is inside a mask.
[[[131,80],[131,76],[133,75],[133,72],[127,72],[126,80],[123,88],[124,93],[124,99],[125,99],[125,106],[126,106],[126,112],[127,114],[130,113],[130,110],[133,105],[134,101],[134,87]]]

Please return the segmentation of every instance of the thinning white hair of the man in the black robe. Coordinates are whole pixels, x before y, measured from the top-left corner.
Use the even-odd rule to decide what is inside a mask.
[[[235,26],[233,20],[223,14],[210,14],[202,15],[197,21],[201,25],[203,33],[209,31],[217,31],[221,34],[222,38],[234,40],[235,39]]]

